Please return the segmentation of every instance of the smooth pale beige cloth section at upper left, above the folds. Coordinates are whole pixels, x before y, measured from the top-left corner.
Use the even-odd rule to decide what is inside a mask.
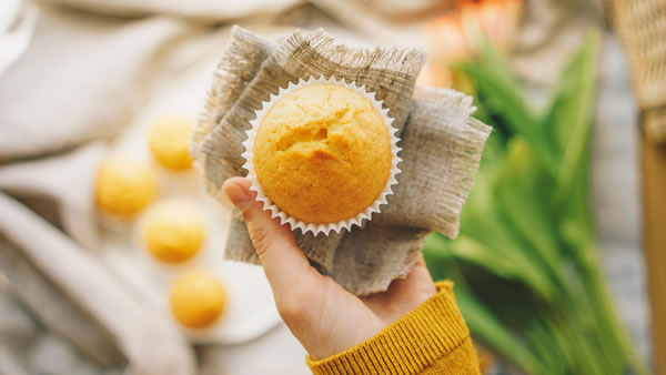
[[[26,54],[0,79],[0,163],[110,139],[213,37],[165,17],[42,10]]]

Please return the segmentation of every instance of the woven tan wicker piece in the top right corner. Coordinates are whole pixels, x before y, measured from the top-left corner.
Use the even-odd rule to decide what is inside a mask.
[[[645,133],[654,142],[666,142],[666,0],[613,0],[610,6]]]

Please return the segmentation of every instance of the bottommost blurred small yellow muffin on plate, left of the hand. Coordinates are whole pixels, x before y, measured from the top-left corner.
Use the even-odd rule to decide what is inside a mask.
[[[224,312],[226,292],[211,273],[191,270],[173,282],[169,303],[180,324],[188,328],[205,328]]]

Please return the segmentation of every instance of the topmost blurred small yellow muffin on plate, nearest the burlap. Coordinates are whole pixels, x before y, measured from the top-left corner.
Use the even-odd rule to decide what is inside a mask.
[[[171,171],[185,171],[192,168],[192,156],[188,150],[194,121],[188,118],[171,116],[157,121],[150,131],[150,152],[160,165]]]

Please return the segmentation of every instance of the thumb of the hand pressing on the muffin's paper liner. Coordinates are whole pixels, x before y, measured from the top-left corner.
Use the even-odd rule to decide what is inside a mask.
[[[250,186],[249,180],[232,178],[224,182],[222,191],[248,224],[252,244],[278,300],[293,291],[295,284],[304,282],[303,277],[316,277],[319,274],[296,244],[291,229],[281,225],[280,219],[271,219]]]

